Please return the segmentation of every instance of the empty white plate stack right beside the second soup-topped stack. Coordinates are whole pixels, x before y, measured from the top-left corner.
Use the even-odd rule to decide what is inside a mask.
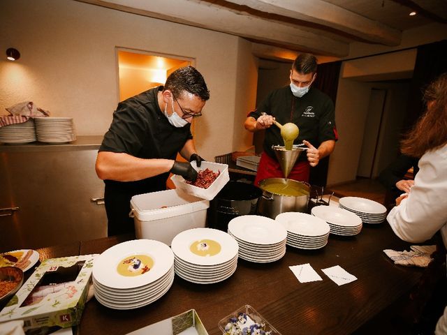
[[[228,234],[239,244],[239,257],[249,262],[267,263],[286,254],[287,230],[272,218],[242,215],[228,223]]]

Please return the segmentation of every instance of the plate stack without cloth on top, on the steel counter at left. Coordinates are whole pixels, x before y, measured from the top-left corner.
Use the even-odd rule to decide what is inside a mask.
[[[37,140],[45,143],[66,143],[76,140],[71,117],[36,117]]]

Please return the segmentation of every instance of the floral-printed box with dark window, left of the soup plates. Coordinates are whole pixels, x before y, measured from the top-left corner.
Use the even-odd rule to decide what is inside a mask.
[[[78,325],[97,255],[44,260],[0,312],[0,322],[24,320],[24,330]]]

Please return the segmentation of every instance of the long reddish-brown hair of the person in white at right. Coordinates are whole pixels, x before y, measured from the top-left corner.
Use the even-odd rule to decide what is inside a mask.
[[[401,142],[402,154],[407,156],[420,158],[447,143],[447,73],[427,86],[424,101],[427,110]]]

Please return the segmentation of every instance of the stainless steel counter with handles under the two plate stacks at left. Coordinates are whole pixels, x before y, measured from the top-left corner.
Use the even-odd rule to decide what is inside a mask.
[[[105,208],[94,201],[104,195],[101,140],[0,145],[0,251],[107,236]]]

